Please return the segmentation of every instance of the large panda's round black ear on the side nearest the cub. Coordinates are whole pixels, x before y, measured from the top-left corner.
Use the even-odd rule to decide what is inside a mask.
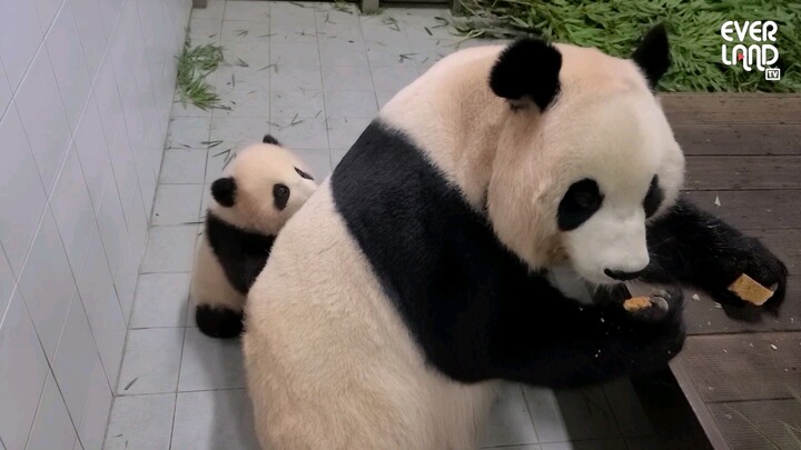
[[[560,91],[562,53],[547,42],[523,38],[511,43],[490,72],[490,88],[513,108],[533,101],[547,108]]]

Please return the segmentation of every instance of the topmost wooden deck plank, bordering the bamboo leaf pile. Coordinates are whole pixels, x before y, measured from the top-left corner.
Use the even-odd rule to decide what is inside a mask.
[[[664,94],[672,124],[801,123],[801,96]]]

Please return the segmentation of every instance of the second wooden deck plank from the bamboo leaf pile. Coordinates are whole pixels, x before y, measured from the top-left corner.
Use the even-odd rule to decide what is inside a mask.
[[[673,127],[684,154],[801,154],[801,126],[680,123]]]

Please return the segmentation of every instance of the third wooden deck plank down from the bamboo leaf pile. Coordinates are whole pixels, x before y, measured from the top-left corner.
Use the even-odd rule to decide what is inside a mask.
[[[801,189],[801,156],[686,157],[686,189]]]

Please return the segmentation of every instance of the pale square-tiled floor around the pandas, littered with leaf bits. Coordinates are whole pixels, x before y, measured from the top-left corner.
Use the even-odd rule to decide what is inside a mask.
[[[235,0],[192,12],[192,43],[224,46],[230,64],[209,82],[231,109],[174,108],[107,448],[257,448],[239,344],[202,336],[187,304],[208,184],[226,151],[267,132],[326,177],[386,100],[456,48],[435,19],[447,14]],[[482,447],[621,449],[652,434],[627,381],[561,393],[513,384]]]

